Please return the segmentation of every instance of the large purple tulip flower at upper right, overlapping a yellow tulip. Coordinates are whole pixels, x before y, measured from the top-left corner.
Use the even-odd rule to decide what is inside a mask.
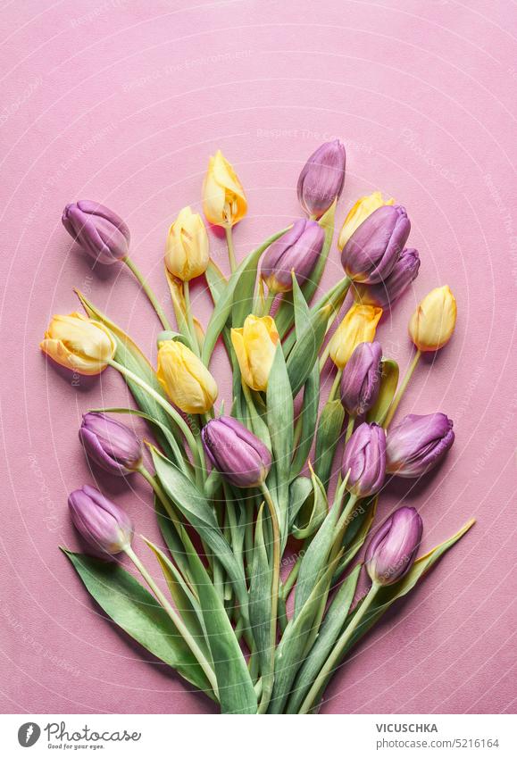
[[[383,205],[368,216],[341,253],[346,275],[377,284],[388,279],[409,237],[411,223],[402,205]]]

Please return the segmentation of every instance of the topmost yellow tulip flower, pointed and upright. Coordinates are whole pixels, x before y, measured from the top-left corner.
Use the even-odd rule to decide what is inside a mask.
[[[238,175],[221,150],[210,157],[203,183],[203,210],[210,223],[232,227],[246,215],[247,202]]]

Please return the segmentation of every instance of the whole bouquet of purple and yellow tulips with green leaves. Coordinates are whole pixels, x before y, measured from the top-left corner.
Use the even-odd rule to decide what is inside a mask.
[[[473,523],[417,557],[422,521],[414,508],[375,522],[387,475],[419,478],[453,445],[444,413],[391,422],[421,353],[452,336],[456,305],[448,287],[424,297],[409,321],[414,360],[399,381],[376,328],[420,260],[406,247],[404,207],[379,192],[346,216],[343,278],[317,297],[345,166],[338,140],[318,148],[298,179],[306,217],[238,262],[232,234],[246,195],[221,151],[211,158],[204,215],[226,232],[231,273],[227,279],[211,259],[201,216],[184,208],[165,250],[175,328],[129,258],[121,218],[90,201],[63,213],[65,229],[96,262],[129,266],[163,324],[154,370],[78,292],[86,316],[54,316],[41,343],[76,374],[121,373],[136,407],[87,412],[79,439],[104,471],[146,479],[163,534],[161,546],[136,538],[129,514],[85,485],[69,506],[88,552],[64,554],[121,629],[225,713],[316,712],[346,654]],[[202,276],[213,299],[205,327],[189,296],[190,280]],[[353,303],[328,340],[349,289]],[[226,411],[210,371],[220,339],[233,376]],[[321,404],[329,359],[336,374]],[[148,423],[154,442],[146,456],[121,414]],[[121,555],[136,571],[114,557]],[[363,568],[370,589],[356,599]]]

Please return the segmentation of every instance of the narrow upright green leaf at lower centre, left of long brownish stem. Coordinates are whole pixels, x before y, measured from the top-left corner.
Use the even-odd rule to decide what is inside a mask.
[[[272,570],[263,533],[263,509],[258,512],[254,534],[254,551],[250,575],[249,618],[255,643],[254,655],[258,657],[263,675],[271,667],[271,581]]]

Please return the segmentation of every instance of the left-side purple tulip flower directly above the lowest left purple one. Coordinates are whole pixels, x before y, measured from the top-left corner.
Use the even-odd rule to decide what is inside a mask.
[[[115,476],[135,471],[142,462],[142,446],[137,435],[105,413],[86,413],[82,417],[79,439],[88,457]]]

